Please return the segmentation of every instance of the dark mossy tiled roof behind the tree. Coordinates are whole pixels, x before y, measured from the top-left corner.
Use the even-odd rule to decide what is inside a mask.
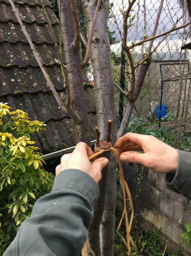
[[[64,91],[60,65],[55,61],[56,48],[39,1],[16,0],[14,3],[56,90]],[[46,0],[44,4],[59,43],[58,20],[50,2]],[[61,150],[65,144],[72,147],[75,144],[73,123],[54,99],[9,1],[0,0],[0,10],[0,102],[8,102],[12,110],[27,112],[32,120],[46,122],[46,132],[34,135],[36,145],[44,154]],[[88,83],[85,75],[84,82]],[[93,124],[97,120],[91,86],[85,87],[85,98],[91,139],[94,139]]]

